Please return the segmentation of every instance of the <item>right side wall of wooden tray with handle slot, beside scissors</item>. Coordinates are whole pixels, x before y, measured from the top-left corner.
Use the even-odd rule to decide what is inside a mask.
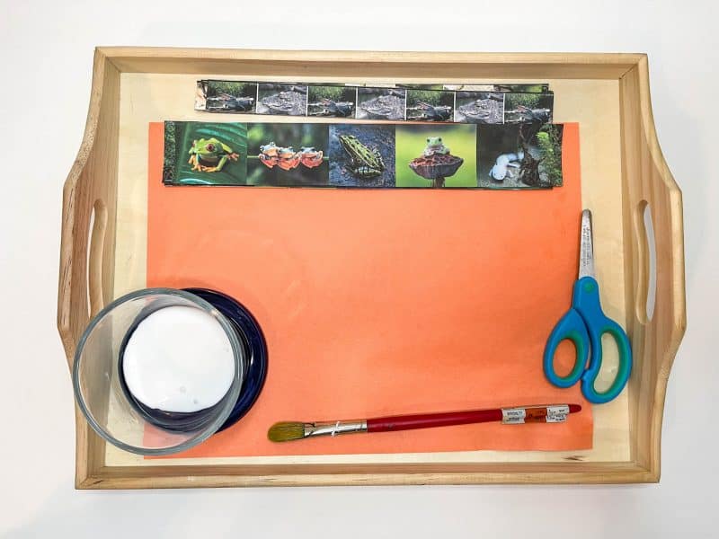
[[[631,423],[635,430],[633,455],[635,462],[650,473],[651,480],[658,481],[664,396],[687,326],[682,199],[661,154],[654,127],[647,58],[641,57],[619,83],[625,244],[631,253],[626,260],[626,295],[627,305],[633,307],[627,312],[627,327],[635,358],[635,374],[629,383]],[[649,241],[644,225],[646,208],[651,212],[653,242]],[[654,308],[648,314],[651,287]]]

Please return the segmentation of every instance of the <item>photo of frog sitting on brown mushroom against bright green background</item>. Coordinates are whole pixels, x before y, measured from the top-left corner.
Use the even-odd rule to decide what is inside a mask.
[[[476,187],[473,125],[396,128],[397,187]]]

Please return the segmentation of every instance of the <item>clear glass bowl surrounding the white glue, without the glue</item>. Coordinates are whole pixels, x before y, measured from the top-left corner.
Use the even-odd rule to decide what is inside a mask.
[[[138,325],[161,309],[179,306],[211,316],[234,358],[226,393],[199,411],[163,411],[146,405],[129,391],[123,370],[125,349]],[[113,446],[138,455],[171,455],[200,444],[223,426],[240,396],[247,363],[237,331],[216,307],[184,290],[146,288],[116,299],[87,326],[75,351],[73,388],[84,417]],[[201,369],[201,363],[197,366]]]

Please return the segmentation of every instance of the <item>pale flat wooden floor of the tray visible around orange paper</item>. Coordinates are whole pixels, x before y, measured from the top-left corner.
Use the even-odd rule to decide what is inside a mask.
[[[200,75],[201,76],[201,75]],[[204,112],[188,109],[189,94],[197,75],[153,75],[129,73],[121,76],[120,166],[116,225],[115,296],[146,286],[147,162],[137,159],[147,148],[147,123],[164,118],[207,120]],[[474,79],[473,79],[474,80]],[[620,114],[618,80],[543,79],[555,89],[555,119],[581,124],[582,203],[596,210],[595,250],[602,282],[602,305],[612,318],[624,323],[625,287],[623,264],[621,163],[619,152]],[[476,80],[476,82],[486,82]],[[500,81],[501,82],[501,81]],[[182,89],[178,91],[178,89]],[[591,95],[590,102],[585,96]],[[151,96],[150,99],[147,96]],[[159,98],[162,96],[162,98]],[[237,115],[213,114],[213,121],[236,121]],[[242,119],[262,121],[262,116]],[[273,117],[289,121],[302,119]],[[571,287],[567,287],[569,293]],[[616,349],[608,349],[601,382],[611,381],[617,366]],[[493,462],[625,462],[630,441],[627,393],[606,405],[595,407],[591,450],[583,451],[462,451],[443,453],[376,455],[285,455],[262,457],[212,457],[171,459],[162,465],[244,464],[386,464],[493,463]],[[146,466],[146,461],[113,446],[106,446],[105,463],[112,466]]]

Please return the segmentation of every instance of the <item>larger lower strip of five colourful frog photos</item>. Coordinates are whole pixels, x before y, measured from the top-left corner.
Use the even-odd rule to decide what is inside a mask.
[[[294,105],[291,105],[294,106]],[[551,189],[562,124],[164,122],[166,185]]]

